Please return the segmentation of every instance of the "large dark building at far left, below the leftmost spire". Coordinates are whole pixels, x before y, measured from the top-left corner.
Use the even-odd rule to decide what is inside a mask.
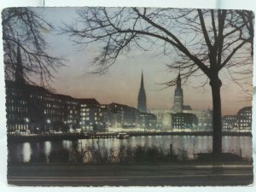
[[[7,130],[29,132],[33,126],[41,128],[46,91],[17,81],[5,81],[5,85]]]

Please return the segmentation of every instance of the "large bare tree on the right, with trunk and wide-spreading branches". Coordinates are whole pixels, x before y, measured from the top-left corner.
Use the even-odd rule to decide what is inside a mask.
[[[77,45],[98,44],[102,48],[94,60],[96,73],[105,73],[121,54],[132,49],[146,51],[154,46],[161,49],[162,54],[170,55],[169,67],[180,70],[183,79],[204,75],[212,88],[212,151],[217,156],[222,152],[222,81],[219,72],[224,68],[229,71],[239,68],[245,72],[247,67],[252,66],[253,52],[248,43],[253,35],[247,28],[248,23],[253,21],[252,12],[84,8],[77,13],[77,23],[63,28]],[[252,17],[244,20],[242,17],[246,13]],[[173,55],[178,58],[175,62],[171,59]],[[172,79],[167,84],[174,85],[176,80]]]

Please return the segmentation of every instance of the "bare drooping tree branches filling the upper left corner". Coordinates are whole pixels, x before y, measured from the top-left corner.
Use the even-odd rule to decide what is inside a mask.
[[[20,46],[26,82],[48,85],[55,69],[63,65],[61,58],[47,52],[49,44],[44,40],[44,34],[54,27],[29,8],[4,9],[2,19],[5,78],[15,79]]]

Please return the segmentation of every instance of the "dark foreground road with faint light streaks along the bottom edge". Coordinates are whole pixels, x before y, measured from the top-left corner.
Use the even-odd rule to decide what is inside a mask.
[[[213,169],[212,169],[213,168]],[[20,186],[224,186],[253,183],[251,162],[108,165],[9,164],[8,183]]]

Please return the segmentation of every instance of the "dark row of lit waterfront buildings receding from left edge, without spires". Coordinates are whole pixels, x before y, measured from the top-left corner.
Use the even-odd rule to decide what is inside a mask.
[[[6,81],[8,131],[103,131],[112,128],[153,129],[156,117],[119,103],[101,104],[54,94],[42,87]]]

